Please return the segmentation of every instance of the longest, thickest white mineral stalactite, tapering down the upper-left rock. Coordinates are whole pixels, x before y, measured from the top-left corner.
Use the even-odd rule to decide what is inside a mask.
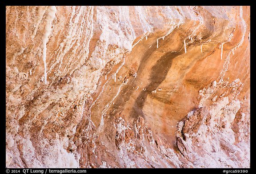
[[[55,6],[49,6],[48,7],[48,16],[46,18],[46,25],[45,25],[45,32],[42,38],[43,41],[43,61],[44,61],[44,83],[47,84],[47,67],[46,67],[46,44],[48,42],[48,37],[51,34],[52,31],[52,21],[55,18],[56,14],[56,7]]]

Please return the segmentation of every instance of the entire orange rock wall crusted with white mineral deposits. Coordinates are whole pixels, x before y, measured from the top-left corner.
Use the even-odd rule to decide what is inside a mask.
[[[250,167],[250,7],[7,6],[6,167]]]

